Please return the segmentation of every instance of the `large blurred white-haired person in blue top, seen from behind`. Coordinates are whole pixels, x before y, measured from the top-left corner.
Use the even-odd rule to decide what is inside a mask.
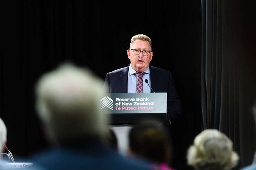
[[[90,71],[65,64],[36,86],[36,108],[53,148],[32,162],[48,170],[149,170],[106,146],[108,114],[100,112],[103,82]]]

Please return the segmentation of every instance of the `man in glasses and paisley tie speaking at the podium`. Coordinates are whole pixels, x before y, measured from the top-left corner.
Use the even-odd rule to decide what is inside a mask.
[[[151,39],[144,34],[133,36],[130,48],[127,50],[127,56],[131,61],[128,67],[107,73],[104,82],[104,87],[108,87],[107,92],[167,92],[169,119],[172,120],[181,114],[181,102],[171,72],[149,66],[153,57]]]

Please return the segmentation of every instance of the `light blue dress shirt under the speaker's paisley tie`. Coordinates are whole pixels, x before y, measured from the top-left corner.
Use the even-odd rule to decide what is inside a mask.
[[[130,64],[129,72],[128,72],[128,82],[127,82],[127,92],[128,93],[136,93],[136,86],[137,86],[138,78],[137,78],[137,76],[134,73],[137,73],[137,71],[135,71],[131,67],[131,64]],[[149,71],[149,67],[144,71],[144,73],[145,74],[142,77],[142,79],[143,79],[143,93],[150,93],[149,86],[151,86],[151,84],[150,84],[150,71]],[[145,82],[146,79],[148,79],[149,86]]]

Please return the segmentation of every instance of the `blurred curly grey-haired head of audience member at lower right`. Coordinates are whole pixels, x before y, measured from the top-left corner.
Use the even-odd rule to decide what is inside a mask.
[[[196,170],[230,170],[237,165],[239,157],[225,134],[207,129],[195,137],[187,159]]]

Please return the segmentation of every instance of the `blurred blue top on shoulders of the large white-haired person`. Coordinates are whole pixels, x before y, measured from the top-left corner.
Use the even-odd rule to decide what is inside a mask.
[[[44,170],[151,170],[150,164],[131,160],[100,144],[53,148],[32,157],[28,169]],[[40,168],[37,168],[40,167]]]

